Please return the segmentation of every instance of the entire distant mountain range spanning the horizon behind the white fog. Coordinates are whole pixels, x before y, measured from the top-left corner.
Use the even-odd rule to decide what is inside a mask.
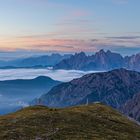
[[[100,50],[93,55],[84,52],[72,54],[52,54],[11,61],[0,61],[0,68],[44,68],[66,70],[107,71],[118,68],[140,71],[140,53],[123,57],[119,53]]]

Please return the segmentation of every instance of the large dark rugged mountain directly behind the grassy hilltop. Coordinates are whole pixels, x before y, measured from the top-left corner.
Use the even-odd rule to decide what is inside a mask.
[[[140,73],[116,69],[87,74],[59,84],[39,100],[50,107],[67,107],[99,101],[119,108],[138,92],[140,92]]]

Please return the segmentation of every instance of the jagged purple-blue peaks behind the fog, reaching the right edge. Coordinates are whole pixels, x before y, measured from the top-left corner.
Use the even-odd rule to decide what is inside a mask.
[[[118,53],[100,50],[87,56],[84,52],[76,53],[54,66],[54,69],[98,70],[107,71],[118,68],[140,71],[140,53],[123,57]]]

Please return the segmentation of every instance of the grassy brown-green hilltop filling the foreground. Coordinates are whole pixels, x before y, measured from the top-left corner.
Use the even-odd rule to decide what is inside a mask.
[[[1,140],[140,140],[140,126],[101,104],[29,107],[0,117]]]

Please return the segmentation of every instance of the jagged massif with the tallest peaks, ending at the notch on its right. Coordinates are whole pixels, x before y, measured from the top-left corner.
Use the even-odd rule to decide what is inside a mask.
[[[111,70],[124,67],[124,59],[120,54],[100,50],[95,55],[86,56],[81,52],[62,60],[54,69],[76,70]]]

